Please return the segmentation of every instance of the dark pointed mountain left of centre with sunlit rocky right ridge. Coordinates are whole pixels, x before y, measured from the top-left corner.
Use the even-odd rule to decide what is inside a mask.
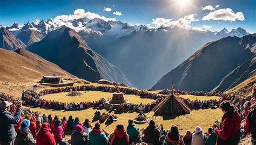
[[[63,26],[52,31],[43,40],[27,49],[79,78],[91,82],[105,78],[132,86],[122,71],[93,52],[71,28]]]

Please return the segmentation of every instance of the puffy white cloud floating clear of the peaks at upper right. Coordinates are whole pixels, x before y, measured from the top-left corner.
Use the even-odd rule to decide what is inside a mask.
[[[232,9],[219,9],[208,13],[202,18],[202,20],[224,20],[224,21],[235,21],[235,20],[245,20],[244,13],[237,12],[234,13]]]

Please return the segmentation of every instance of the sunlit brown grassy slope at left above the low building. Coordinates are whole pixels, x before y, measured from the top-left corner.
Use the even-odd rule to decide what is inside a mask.
[[[0,81],[15,83],[35,82],[43,75],[62,75],[76,77],[56,64],[24,49],[15,52],[0,48]],[[38,80],[37,80],[38,81]]]

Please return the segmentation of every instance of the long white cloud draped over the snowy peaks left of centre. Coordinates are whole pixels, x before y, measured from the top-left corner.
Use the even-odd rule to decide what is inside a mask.
[[[75,20],[75,19],[80,19],[80,18],[84,18],[87,17],[89,19],[94,19],[94,18],[100,18],[103,19],[105,21],[116,21],[116,18],[106,18],[104,16],[100,16],[97,13],[93,13],[93,12],[85,12],[84,9],[77,9],[73,12],[73,14],[69,14],[69,15],[60,15],[57,16],[54,20],[56,21],[56,23],[60,23],[62,24],[63,21],[70,21],[70,20]]]

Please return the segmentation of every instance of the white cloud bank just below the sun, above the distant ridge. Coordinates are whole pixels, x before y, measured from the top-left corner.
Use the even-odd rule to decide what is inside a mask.
[[[157,27],[181,27],[181,28],[192,28],[191,22],[192,21],[199,21],[195,17],[197,14],[190,14],[188,16],[184,16],[182,18],[179,18],[178,20],[172,20],[172,19],[165,19],[165,18],[156,18],[152,19],[152,24],[156,25]]]

